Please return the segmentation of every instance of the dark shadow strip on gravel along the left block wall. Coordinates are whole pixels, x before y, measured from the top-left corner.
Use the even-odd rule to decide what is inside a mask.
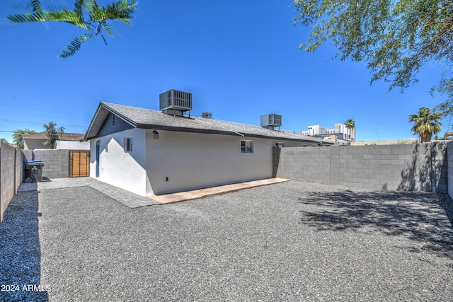
[[[38,192],[18,192],[0,223],[0,301],[48,301],[40,285]]]

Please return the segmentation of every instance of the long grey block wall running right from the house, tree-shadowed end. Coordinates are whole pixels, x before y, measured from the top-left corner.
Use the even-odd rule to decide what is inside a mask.
[[[453,158],[452,158],[453,159]],[[447,144],[283,148],[277,177],[327,185],[447,193]]]

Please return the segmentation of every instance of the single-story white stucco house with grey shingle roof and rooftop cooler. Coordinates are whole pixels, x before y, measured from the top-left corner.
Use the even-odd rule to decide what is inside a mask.
[[[196,190],[272,178],[275,146],[326,145],[269,125],[185,116],[190,93],[182,108],[162,95],[162,111],[99,103],[85,134],[92,178],[140,195]]]

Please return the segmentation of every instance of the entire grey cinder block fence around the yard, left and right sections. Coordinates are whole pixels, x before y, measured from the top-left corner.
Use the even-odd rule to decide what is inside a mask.
[[[22,182],[22,159],[41,160],[42,176],[69,177],[68,150],[19,150],[0,143],[0,221]],[[380,190],[448,193],[453,141],[447,143],[274,148],[273,176]]]

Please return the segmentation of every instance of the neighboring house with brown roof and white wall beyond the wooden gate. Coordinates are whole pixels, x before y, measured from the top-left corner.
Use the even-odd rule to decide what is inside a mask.
[[[89,144],[84,141],[85,134],[83,133],[62,133],[55,149],[64,150],[89,150]],[[52,146],[45,146],[47,141],[47,132],[39,132],[35,134],[23,135],[23,149],[52,149]]]

